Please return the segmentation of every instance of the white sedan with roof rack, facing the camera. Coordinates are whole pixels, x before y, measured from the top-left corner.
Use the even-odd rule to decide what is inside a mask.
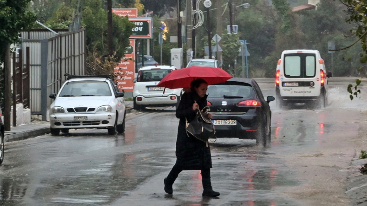
[[[109,76],[68,76],[50,106],[51,135],[69,129],[108,129],[109,135],[125,131],[124,93]]]

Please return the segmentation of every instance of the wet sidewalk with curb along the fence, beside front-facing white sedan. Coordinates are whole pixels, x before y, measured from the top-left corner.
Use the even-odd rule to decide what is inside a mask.
[[[131,113],[133,108],[132,101],[126,101],[126,113]],[[10,131],[5,131],[4,142],[24,140],[50,133],[50,122],[32,121],[31,124],[11,127]]]

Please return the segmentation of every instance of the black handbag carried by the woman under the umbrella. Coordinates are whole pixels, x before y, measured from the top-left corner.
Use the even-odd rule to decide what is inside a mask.
[[[205,142],[208,146],[208,139],[215,135],[213,122],[208,118],[208,114],[197,110],[195,118],[191,122],[186,119],[186,133]]]

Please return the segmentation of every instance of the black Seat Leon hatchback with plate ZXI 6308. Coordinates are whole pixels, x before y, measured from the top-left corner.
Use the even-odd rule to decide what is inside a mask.
[[[256,139],[264,147],[270,143],[272,112],[259,85],[253,79],[231,78],[209,85],[207,93],[209,112],[213,115],[216,136]]]

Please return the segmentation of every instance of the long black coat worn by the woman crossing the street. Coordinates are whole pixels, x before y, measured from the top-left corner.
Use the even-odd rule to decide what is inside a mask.
[[[188,122],[194,119],[196,113],[192,111],[192,105],[199,104],[202,110],[207,106],[207,95],[200,98],[196,92],[185,92],[176,110],[176,117],[180,119],[178,124],[176,141],[176,164],[183,170],[201,170],[212,168],[210,147],[201,140],[186,134],[186,118]]]

